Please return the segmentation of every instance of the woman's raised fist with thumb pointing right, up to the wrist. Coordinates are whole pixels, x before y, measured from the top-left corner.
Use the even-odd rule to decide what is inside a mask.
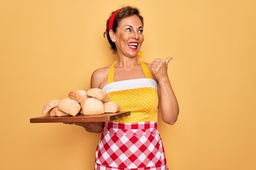
[[[151,71],[153,72],[157,80],[161,79],[162,77],[168,76],[167,68],[172,58],[173,57],[167,57],[166,59],[155,59],[151,63]]]

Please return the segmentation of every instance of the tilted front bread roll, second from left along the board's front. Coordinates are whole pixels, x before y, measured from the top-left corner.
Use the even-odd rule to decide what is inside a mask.
[[[77,101],[71,98],[64,98],[58,104],[58,109],[60,109],[60,111],[75,116],[78,115],[78,113],[80,112],[81,106]]]

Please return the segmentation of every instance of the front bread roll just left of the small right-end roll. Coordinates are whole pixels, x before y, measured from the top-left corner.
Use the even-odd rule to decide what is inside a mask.
[[[81,103],[83,115],[97,115],[105,113],[102,101],[97,98],[87,98]]]

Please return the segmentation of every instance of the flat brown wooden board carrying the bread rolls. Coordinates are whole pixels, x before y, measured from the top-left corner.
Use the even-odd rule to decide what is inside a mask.
[[[104,113],[100,115],[67,115],[61,117],[41,116],[31,118],[30,123],[79,123],[79,122],[109,122],[130,115],[131,112]]]

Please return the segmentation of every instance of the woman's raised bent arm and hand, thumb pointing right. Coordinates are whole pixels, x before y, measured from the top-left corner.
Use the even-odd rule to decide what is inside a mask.
[[[167,66],[171,59],[172,57],[154,60],[151,63],[151,71],[158,81],[159,115],[165,123],[173,125],[178,118],[179,108],[167,74]]]

